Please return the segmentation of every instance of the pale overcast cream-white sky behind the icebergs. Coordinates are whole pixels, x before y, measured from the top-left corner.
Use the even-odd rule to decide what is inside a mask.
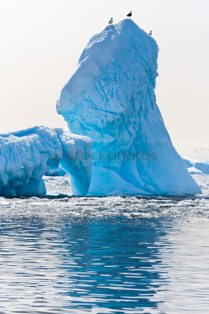
[[[156,96],[171,138],[208,139],[206,0],[0,0],[0,132],[67,128],[55,106],[63,85],[90,37],[129,11],[160,49]]]

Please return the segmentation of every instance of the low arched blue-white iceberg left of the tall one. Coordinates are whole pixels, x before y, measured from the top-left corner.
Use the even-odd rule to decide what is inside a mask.
[[[46,194],[42,176],[60,165],[71,179],[71,192],[86,195],[91,181],[91,160],[68,160],[68,152],[91,151],[86,136],[61,128],[29,127],[0,134],[0,196]]]

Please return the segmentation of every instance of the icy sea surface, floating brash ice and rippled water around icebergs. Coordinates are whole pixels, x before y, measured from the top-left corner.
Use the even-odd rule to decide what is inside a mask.
[[[203,194],[68,197],[44,176],[54,196],[0,198],[1,313],[207,314],[209,175],[193,178]]]

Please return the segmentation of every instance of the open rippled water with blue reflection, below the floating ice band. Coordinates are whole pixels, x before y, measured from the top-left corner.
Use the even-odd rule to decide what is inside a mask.
[[[187,220],[2,217],[0,312],[207,313],[208,219]]]

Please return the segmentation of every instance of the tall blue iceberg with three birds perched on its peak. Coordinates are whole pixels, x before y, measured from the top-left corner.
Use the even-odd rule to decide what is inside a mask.
[[[158,154],[158,160],[94,161],[91,195],[201,193],[156,104],[157,57],[153,37],[122,20],[90,39],[62,89],[57,112],[70,131],[93,139],[93,152]]]

